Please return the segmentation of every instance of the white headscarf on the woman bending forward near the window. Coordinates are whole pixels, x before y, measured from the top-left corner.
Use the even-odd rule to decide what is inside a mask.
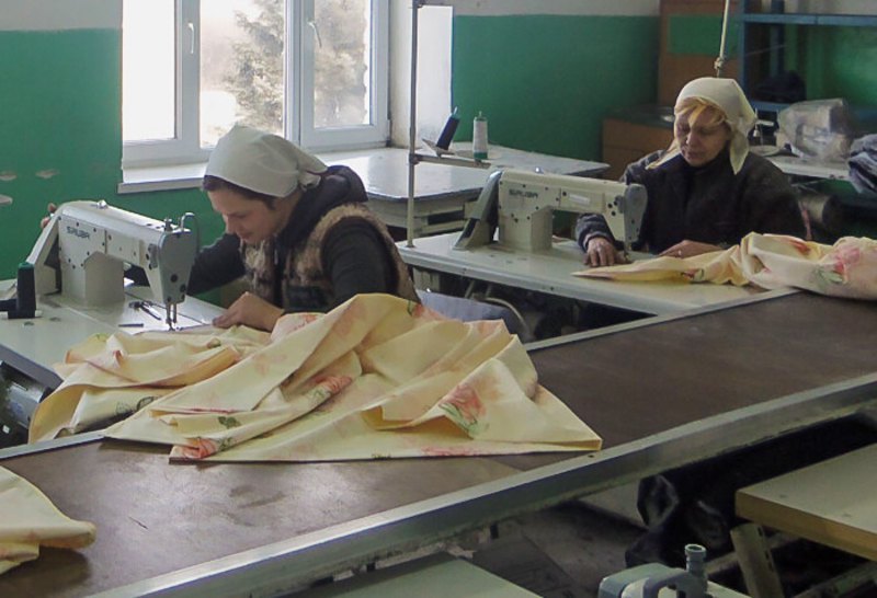
[[[235,125],[216,143],[204,174],[218,176],[238,186],[286,197],[299,186],[320,182],[326,164],[283,137]]]

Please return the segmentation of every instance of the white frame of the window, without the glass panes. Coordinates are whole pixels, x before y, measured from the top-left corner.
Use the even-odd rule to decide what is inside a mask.
[[[315,1],[319,0],[285,0],[284,135],[311,151],[386,146],[389,139],[389,0],[369,0],[372,123],[331,129],[314,127],[314,45],[317,36],[311,22]],[[174,0],[176,134],[173,139],[167,140],[123,139],[123,170],[202,163],[209,157],[213,148],[202,148],[200,139],[200,10],[201,0]],[[309,92],[305,93],[306,90]]]

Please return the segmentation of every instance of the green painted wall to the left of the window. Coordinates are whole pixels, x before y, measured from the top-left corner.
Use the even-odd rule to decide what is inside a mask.
[[[117,30],[0,32],[0,279],[13,278],[49,202],[104,198],[152,216],[194,211],[205,240],[221,221],[200,191],[116,194],[122,180]]]

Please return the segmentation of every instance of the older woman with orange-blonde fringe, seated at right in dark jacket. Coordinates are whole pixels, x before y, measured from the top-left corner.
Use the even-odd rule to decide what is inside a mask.
[[[787,177],[749,151],[755,113],[734,80],[691,81],[673,112],[670,148],[630,164],[623,177],[648,193],[640,249],[691,257],[737,244],[750,232],[805,235]],[[586,264],[620,260],[602,216],[582,216],[576,237]]]

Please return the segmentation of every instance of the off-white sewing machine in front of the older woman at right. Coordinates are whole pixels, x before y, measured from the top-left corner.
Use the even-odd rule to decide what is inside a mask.
[[[470,249],[493,240],[525,251],[551,246],[555,210],[602,215],[625,253],[639,238],[646,211],[646,187],[600,179],[546,174],[524,170],[492,173],[476,202],[455,249]]]

